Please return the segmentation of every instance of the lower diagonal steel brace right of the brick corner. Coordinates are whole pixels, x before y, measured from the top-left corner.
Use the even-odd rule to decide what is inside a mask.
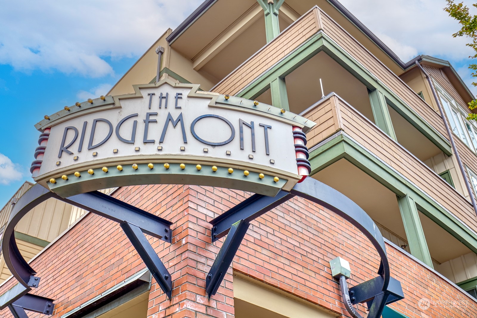
[[[206,277],[206,292],[208,293],[209,298],[217,293],[217,289],[220,287],[220,283],[222,283],[228,267],[232,263],[245,233],[247,233],[249,225],[249,222],[240,220],[230,226],[228,236],[220,248],[217,258]]]

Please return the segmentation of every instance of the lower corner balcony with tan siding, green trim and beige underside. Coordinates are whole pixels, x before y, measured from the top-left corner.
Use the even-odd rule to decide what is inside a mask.
[[[416,200],[416,205],[437,270],[440,264],[473,250],[468,242],[464,246],[456,239],[459,234],[445,224],[443,216],[450,215],[455,224],[467,225],[476,231],[477,217],[470,202],[352,105],[331,93],[302,115],[317,123],[307,133],[313,177],[349,196],[379,226],[404,240],[406,232],[396,195],[409,195],[412,191],[411,195],[417,197],[420,193],[421,201]],[[342,150],[331,150],[327,154],[340,143],[340,138],[347,144],[340,148]],[[360,152],[368,158],[358,157]],[[372,167],[373,160],[387,172],[378,173]],[[403,248],[408,250],[406,246]]]

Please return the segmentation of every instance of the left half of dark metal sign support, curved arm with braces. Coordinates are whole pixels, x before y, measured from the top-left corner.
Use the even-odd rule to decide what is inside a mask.
[[[123,228],[124,226],[136,228],[137,231],[134,235],[130,235],[125,231],[126,236],[128,236],[131,243],[136,247],[141,258],[145,260],[146,266],[153,272],[153,276],[161,288],[167,296],[171,297],[172,282],[168,279],[170,274],[157,254],[150,245],[146,246],[148,245],[148,243],[146,243],[147,240],[142,242],[142,245],[139,244],[139,247],[141,247],[139,249],[138,246],[136,246],[137,244],[135,245],[138,240],[141,240],[141,232],[171,243],[172,236],[169,233],[170,226],[172,225],[171,222],[97,191],[62,198],[49,189],[36,184],[25,192],[13,206],[9,222],[4,230],[1,248],[3,250],[5,263],[13,277],[19,281],[19,284],[0,296],[0,309],[20,299],[27,294],[32,287],[38,287],[39,285],[40,277],[35,277],[37,272],[25,261],[18,249],[15,240],[15,226],[32,208],[49,198],[55,198],[104,216],[120,223]]]

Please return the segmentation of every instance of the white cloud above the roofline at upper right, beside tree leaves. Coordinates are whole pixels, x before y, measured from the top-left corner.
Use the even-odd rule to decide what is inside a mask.
[[[418,54],[463,61],[472,53],[465,45],[468,42],[466,38],[452,37],[460,27],[443,10],[445,0],[341,2],[403,62]]]

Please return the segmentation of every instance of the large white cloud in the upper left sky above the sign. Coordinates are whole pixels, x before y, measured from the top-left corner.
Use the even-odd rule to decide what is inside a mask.
[[[114,74],[106,57],[142,54],[201,0],[1,1],[0,63],[29,72]]]

